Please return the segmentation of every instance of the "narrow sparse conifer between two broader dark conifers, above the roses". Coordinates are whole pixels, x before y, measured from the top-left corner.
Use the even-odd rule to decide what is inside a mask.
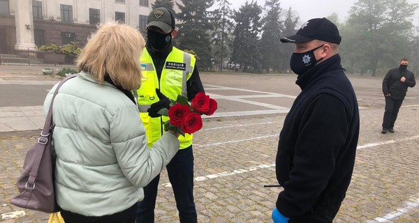
[[[223,70],[223,61],[230,55],[233,44],[233,10],[228,0],[216,0],[216,9],[212,12],[212,56],[214,62]]]

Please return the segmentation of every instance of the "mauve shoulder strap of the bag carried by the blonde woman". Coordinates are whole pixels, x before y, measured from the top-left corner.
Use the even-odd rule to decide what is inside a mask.
[[[50,133],[52,132],[52,125],[51,125],[52,105],[54,105],[55,96],[57,95],[59,88],[64,84],[64,82],[66,82],[68,79],[71,79],[73,77],[77,77],[77,75],[68,75],[61,82],[59,82],[57,89],[55,89],[54,91],[54,95],[52,95],[50,109],[48,110],[47,117],[45,118],[44,128],[41,132],[41,136],[38,138],[38,143],[35,144],[35,146],[37,147],[36,155],[34,158],[34,164],[32,165],[26,187],[28,186],[35,187],[34,183],[35,183],[36,176],[38,176],[38,169],[39,169],[39,165],[41,164],[43,152],[45,151],[45,147],[47,146],[47,144],[51,143],[48,139],[52,139],[52,137],[50,137]],[[45,132],[47,132],[47,134],[45,134]]]

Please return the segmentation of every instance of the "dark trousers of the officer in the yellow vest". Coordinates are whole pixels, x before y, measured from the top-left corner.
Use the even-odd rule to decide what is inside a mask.
[[[175,194],[179,220],[182,223],[197,222],[195,203],[193,202],[193,151],[192,146],[177,151],[175,157],[166,166],[173,193]],[[144,187],[144,199],[138,202],[137,223],[154,222],[157,186],[160,175]]]

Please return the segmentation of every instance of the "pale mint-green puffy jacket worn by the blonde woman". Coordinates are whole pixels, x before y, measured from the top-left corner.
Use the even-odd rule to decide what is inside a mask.
[[[45,114],[57,84],[47,94]],[[108,82],[86,72],[61,86],[53,105],[55,190],[64,210],[102,216],[125,210],[179,149],[173,134],[147,148],[138,107]]]

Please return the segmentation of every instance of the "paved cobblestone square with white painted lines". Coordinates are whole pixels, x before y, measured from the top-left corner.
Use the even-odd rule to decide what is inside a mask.
[[[194,138],[198,222],[272,222],[281,189],[263,185],[277,183],[279,132],[300,92],[295,77],[201,74],[219,110]],[[360,139],[353,179],[334,222],[419,222],[419,87],[409,89],[396,132],[381,134],[381,78],[349,77],[362,107]],[[22,210],[8,200],[17,193],[15,179],[37,134],[0,133],[0,213]],[[156,222],[178,222],[166,171],[160,183]],[[47,222],[45,213],[24,213],[3,222]]]

